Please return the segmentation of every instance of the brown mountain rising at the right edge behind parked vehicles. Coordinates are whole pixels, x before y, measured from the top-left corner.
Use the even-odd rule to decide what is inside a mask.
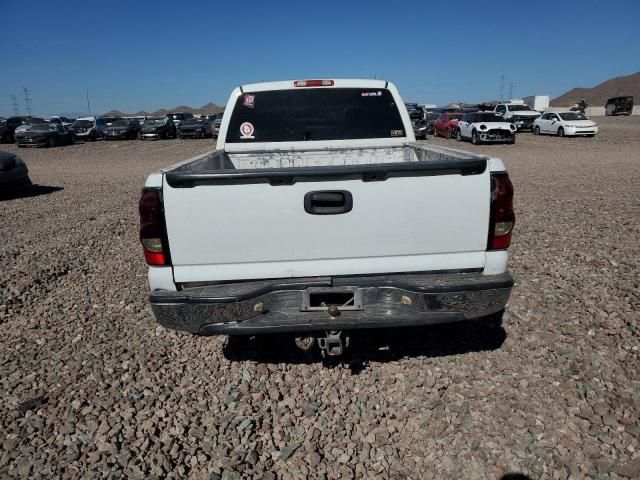
[[[633,95],[635,102],[640,102],[640,72],[622,77],[614,77],[592,88],[574,88],[551,101],[553,107],[573,105],[584,98],[594,107],[603,107],[611,97]]]

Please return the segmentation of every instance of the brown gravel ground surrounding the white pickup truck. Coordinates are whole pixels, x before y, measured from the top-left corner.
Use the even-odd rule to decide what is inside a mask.
[[[38,186],[0,201],[0,477],[639,478],[640,119],[600,124],[432,140],[511,173],[504,329],[361,333],[335,363],[154,323],[140,189],[210,140],[20,150]]]

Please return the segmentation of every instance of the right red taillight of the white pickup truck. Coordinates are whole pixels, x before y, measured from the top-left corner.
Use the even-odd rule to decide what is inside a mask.
[[[511,243],[516,222],[513,213],[513,185],[507,173],[491,174],[491,214],[489,218],[488,250],[504,250]]]

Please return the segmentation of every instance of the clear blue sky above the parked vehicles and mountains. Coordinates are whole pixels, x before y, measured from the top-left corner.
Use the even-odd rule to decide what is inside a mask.
[[[550,94],[640,70],[640,1],[0,0],[0,115],[224,104],[240,83],[384,78],[406,101]]]

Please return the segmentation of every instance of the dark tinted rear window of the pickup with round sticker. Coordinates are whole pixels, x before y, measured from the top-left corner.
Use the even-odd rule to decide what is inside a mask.
[[[406,137],[391,92],[375,88],[245,93],[233,109],[227,143]]]

